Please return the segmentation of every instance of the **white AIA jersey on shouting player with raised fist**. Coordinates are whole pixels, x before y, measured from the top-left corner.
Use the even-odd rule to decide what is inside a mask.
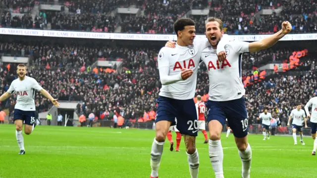
[[[230,101],[245,94],[241,78],[241,59],[243,53],[249,52],[249,43],[233,41],[225,46],[227,58],[220,62],[216,49],[205,48],[202,59],[209,75],[209,99],[211,101]]]

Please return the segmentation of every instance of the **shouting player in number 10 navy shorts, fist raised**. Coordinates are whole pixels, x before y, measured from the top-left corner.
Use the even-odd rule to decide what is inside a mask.
[[[242,162],[242,178],[250,178],[252,152],[248,143],[248,115],[245,106],[245,89],[241,76],[243,53],[253,53],[273,46],[292,29],[289,22],[282,23],[282,29],[261,41],[247,43],[221,40],[223,22],[215,17],[206,20],[206,37],[211,46],[204,49],[202,60],[209,73],[209,157],[216,178],[223,175],[223,149],[220,142],[222,127],[226,118],[233,131]],[[220,42],[220,43],[219,43]],[[173,47],[174,42],[165,46]]]

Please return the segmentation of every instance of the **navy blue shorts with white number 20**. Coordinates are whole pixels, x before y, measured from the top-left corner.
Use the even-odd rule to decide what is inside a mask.
[[[155,122],[160,120],[171,121],[181,134],[197,136],[198,116],[194,99],[176,100],[159,96]]]

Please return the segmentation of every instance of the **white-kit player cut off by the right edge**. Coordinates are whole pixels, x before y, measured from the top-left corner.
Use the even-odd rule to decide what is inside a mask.
[[[312,107],[312,115],[309,114],[308,108]],[[307,104],[305,105],[305,111],[307,114],[307,118],[311,119],[311,128],[312,128],[312,137],[315,140],[314,141],[314,149],[312,152],[312,155],[316,155],[316,149],[317,149],[317,138],[316,138],[316,132],[317,132],[317,97],[311,98]]]

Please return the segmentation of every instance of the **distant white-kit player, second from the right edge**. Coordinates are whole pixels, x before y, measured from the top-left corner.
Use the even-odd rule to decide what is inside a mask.
[[[299,135],[301,137],[301,143],[302,145],[305,145],[304,141],[303,141],[303,119],[305,122],[305,128],[307,128],[307,121],[306,121],[306,116],[305,116],[305,111],[302,110],[302,104],[298,104],[296,106],[296,109],[292,110],[288,122],[287,122],[287,126],[289,126],[291,119],[293,119],[292,121],[292,131],[293,131],[293,139],[294,139],[294,145],[297,145],[297,138],[296,138],[296,131],[299,132]]]

